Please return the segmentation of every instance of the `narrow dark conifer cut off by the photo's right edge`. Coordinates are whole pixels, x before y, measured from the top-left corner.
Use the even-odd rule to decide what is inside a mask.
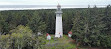
[[[105,11],[104,11],[104,16],[105,16],[105,18],[103,19],[103,21],[105,22],[105,24],[106,24],[106,26],[105,26],[105,28],[106,28],[106,33],[107,34],[111,34],[111,33],[108,33],[108,32],[110,32],[111,31],[111,6],[110,5],[108,5],[106,8],[105,8]]]

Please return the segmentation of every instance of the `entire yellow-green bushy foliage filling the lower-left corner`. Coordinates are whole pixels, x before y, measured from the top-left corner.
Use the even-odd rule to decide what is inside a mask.
[[[12,34],[1,35],[0,47],[3,49],[38,49],[41,43],[29,27],[19,25]]]

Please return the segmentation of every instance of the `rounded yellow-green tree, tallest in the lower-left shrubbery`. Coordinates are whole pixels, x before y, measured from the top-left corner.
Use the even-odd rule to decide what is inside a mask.
[[[13,46],[17,49],[22,49],[23,47],[30,45],[32,42],[32,30],[29,27],[18,26],[17,28],[11,30],[11,40],[13,41]]]

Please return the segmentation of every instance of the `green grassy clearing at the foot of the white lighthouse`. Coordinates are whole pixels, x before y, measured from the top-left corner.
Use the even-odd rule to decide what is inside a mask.
[[[67,35],[62,38],[56,38],[51,35],[51,40],[46,40],[46,36],[39,36],[38,39],[42,40],[42,47],[40,49],[76,49],[76,44]],[[79,46],[79,49],[89,49],[89,47]]]

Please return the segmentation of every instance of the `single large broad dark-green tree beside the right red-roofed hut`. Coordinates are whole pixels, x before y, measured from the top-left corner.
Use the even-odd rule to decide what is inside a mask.
[[[96,6],[93,9],[88,8],[81,12],[76,12],[76,17],[74,17],[72,28],[74,35],[72,38],[76,39],[77,43],[81,42],[82,45],[100,46],[98,38],[105,27],[102,21],[104,16],[99,13]]]

